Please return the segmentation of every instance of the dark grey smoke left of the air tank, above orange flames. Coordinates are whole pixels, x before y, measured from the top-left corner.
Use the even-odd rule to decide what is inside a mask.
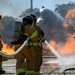
[[[14,30],[15,20],[12,17],[5,16],[1,22],[1,37],[2,41],[8,45],[11,45],[13,40],[13,30]]]

